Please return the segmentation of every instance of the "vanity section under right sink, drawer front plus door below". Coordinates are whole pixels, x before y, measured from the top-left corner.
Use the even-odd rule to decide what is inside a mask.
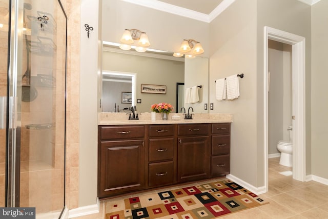
[[[178,125],[178,182],[210,177],[211,124]]]

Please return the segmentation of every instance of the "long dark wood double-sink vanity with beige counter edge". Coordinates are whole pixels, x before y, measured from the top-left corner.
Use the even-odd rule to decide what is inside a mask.
[[[225,176],[231,122],[99,121],[98,197]]]

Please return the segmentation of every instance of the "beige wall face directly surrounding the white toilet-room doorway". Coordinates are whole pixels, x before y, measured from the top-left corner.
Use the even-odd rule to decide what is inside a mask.
[[[263,148],[263,69],[264,26],[269,26],[305,37],[305,133],[306,174],[311,173],[311,6],[298,0],[257,1],[257,147]],[[259,152],[258,165],[263,167],[263,152]],[[262,178],[263,172],[258,172]]]

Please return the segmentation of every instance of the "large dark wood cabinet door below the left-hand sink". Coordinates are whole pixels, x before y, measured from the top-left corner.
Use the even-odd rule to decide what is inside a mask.
[[[98,196],[105,197],[145,187],[143,140],[101,142]]]

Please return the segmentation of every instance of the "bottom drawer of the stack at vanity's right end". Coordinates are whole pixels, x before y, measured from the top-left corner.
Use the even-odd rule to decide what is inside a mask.
[[[230,155],[219,155],[212,156],[211,161],[211,175],[215,176],[224,176],[230,173]]]

